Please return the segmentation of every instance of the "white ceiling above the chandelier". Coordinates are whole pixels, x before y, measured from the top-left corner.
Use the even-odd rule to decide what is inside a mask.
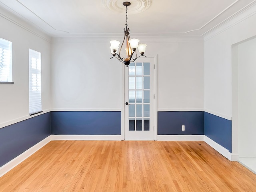
[[[119,36],[124,0],[0,0],[0,7],[57,36]],[[114,11],[106,4],[117,5]],[[128,7],[128,27],[137,36],[202,35],[255,0],[130,0],[146,2],[143,12]],[[131,12],[129,13],[129,8]],[[134,36],[134,35],[133,35]]]

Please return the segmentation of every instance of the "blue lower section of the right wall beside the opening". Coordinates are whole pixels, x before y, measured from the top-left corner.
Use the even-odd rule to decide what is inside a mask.
[[[204,134],[232,152],[232,122],[204,112]]]

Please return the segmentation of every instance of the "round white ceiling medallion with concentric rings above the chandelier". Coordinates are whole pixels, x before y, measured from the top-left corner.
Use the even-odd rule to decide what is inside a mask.
[[[123,12],[125,10],[122,6],[123,0],[102,0],[103,5],[111,11]],[[147,10],[152,1],[151,0],[130,0],[129,13],[141,13]]]

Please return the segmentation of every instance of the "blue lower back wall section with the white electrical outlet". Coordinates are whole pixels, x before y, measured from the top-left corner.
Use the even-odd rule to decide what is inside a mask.
[[[181,126],[185,125],[185,131]],[[158,112],[158,135],[204,135],[204,112]]]

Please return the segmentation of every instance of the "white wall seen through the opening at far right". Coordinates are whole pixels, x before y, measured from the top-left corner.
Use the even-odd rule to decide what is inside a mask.
[[[256,38],[238,45],[239,156],[256,157]]]

